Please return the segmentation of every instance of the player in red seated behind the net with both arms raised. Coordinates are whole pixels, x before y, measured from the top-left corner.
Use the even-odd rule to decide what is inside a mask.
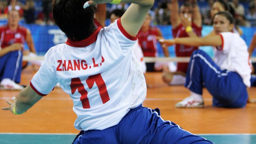
[[[176,37],[200,37],[202,30],[202,16],[196,0],[191,3],[184,3],[180,6],[178,0],[172,0],[170,4],[170,21],[172,23],[172,36]],[[188,57],[197,50],[197,46],[175,44],[176,57]],[[163,73],[163,80],[169,85],[183,85],[186,81],[188,62],[177,62],[177,69],[174,72]]]

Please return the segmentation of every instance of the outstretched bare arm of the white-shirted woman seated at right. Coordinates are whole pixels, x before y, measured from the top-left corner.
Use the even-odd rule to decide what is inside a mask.
[[[207,37],[184,37],[184,38],[174,38],[169,40],[160,39],[160,43],[171,46],[173,44],[184,44],[191,46],[221,46],[222,40],[220,35],[207,36]]]

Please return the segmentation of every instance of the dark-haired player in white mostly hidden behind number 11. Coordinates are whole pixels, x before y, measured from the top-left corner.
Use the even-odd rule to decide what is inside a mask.
[[[115,20],[120,19],[123,14],[124,14],[124,11],[123,11],[123,10],[120,10],[120,9],[115,9],[115,10],[113,10],[113,11],[110,13],[110,23],[114,23]],[[137,40],[137,42],[133,45],[132,51],[134,52],[135,57],[136,57],[137,61],[139,62],[140,68],[141,68],[143,74],[145,75],[147,68],[146,68],[146,63],[145,63],[145,61],[144,61],[144,59],[143,59],[143,58],[144,58],[143,52],[142,52],[142,50],[141,50],[141,47],[140,47],[140,45],[139,45],[138,40]]]

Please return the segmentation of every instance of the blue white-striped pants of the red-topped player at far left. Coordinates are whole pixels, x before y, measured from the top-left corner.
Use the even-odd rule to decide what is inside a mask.
[[[0,57],[0,81],[9,78],[16,83],[20,83],[22,67],[22,52],[8,52]]]

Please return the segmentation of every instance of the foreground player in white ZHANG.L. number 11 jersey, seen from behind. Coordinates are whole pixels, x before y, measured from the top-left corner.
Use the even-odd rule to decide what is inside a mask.
[[[2,109],[22,114],[59,81],[73,100],[74,126],[82,130],[74,144],[210,144],[142,106],[147,87],[131,48],[154,0],[123,0],[132,3],[124,15],[96,28],[95,4],[111,1],[56,0],[53,17],[68,40],[49,49],[30,85]]]

